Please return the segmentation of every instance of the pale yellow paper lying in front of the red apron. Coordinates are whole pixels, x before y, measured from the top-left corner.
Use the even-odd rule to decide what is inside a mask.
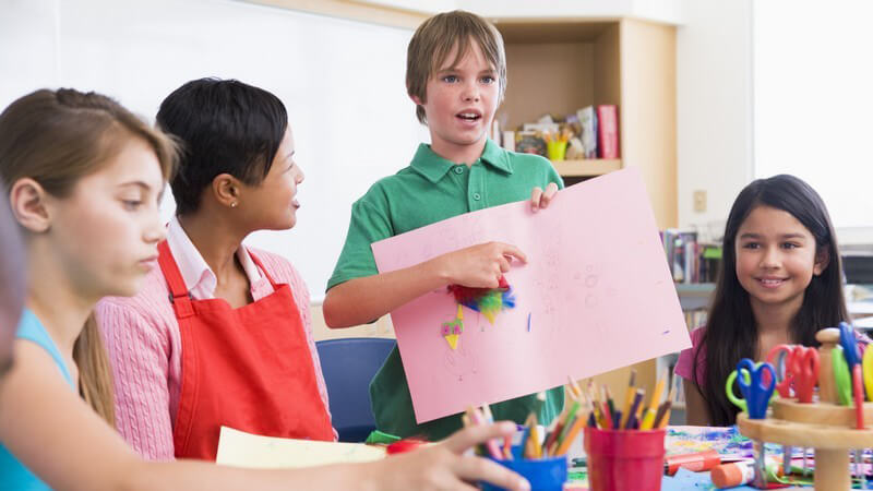
[[[216,464],[249,468],[291,468],[372,462],[385,457],[381,446],[362,443],[261,436],[222,427]]]

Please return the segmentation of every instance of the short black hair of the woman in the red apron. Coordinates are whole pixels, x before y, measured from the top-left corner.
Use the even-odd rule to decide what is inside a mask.
[[[288,113],[278,97],[237,80],[186,83],[160,104],[157,124],[181,147],[170,181],[176,214],[200,206],[203,190],[220,173],[258,184],[270,172]]]

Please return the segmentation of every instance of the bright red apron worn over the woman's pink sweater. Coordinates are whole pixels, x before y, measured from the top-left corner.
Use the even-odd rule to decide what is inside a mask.
[[[167,241],[158,244],[182,338],[172,432],[178,458],[215,460],[223,424],[268,436],[334,439],[291,289],[251,258],[274,291],[231,309],[224,299],[191,299]]]

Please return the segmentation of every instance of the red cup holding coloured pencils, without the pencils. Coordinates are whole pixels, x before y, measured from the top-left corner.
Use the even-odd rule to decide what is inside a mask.
[[[591,491],[659,491],[663,476],[665,430],[585,428]]]

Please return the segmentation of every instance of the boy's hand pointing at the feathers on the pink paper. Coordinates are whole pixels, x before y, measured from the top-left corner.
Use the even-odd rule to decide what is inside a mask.
[[[527,256],[515,246],[486,242],[434,258],[438,274],[450,285],[473,288],[497,288],[503,273],[510,271],[515,258],[523,263]]]

